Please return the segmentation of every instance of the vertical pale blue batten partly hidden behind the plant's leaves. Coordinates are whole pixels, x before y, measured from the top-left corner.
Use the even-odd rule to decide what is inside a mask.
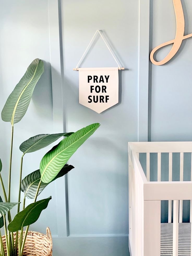
[[[53,94],[53,124],[54,133],[63,132],[63,98],[61,80],[61,57],[59,38],[59,10],[58,0],[49,0],[49,36],[50,59]],[[56,181],[57,195],[57,230],[58,236],[68,236],[68,209],[65,176]]]

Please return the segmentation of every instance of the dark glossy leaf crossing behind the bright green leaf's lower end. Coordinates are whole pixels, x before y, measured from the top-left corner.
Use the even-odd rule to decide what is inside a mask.
[[[57,178],[62,177],[63,175],[67,174],[71,169],[73,169],[73,165],[65,164],[61,171],[57,174],[57,176],[52,180],[56,180]],[[27,175],[21,183],[21,191],[25,193],[25,196],[29,199],[35,198],[35,194],[37,192],[37,187],[39,185],[39,181],[41,179],[40,170],[34,171]],[[52,182],[51,181],[51,182]],[[50,182],[49,182],[50,183]],[[41,182],[41,186],[39,188],[38,195],[43,191],[43,189],[49,184]]]

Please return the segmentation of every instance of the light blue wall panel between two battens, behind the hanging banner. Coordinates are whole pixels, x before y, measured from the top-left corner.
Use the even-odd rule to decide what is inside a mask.
[[[128,149],[137,140],[138,2],[61,1],[67,131],[99,122],[95,134],[71,157],[68,174],[70,236],[128,234]],[[125,26],[126,24],[126,26]],[[97,29],[126,68],[119,71],[119,104],[101,114],[79,104],[73,71]],[[116,66],[97,36],[80,67]]]

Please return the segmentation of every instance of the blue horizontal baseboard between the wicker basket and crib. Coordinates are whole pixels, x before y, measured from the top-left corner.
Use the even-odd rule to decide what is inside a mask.
[[[128,237],[53,237],[54,256],[129,256]]]

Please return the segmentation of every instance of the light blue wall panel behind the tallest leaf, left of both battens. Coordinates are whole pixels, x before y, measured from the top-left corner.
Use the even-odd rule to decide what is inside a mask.
[[[26,115],[19,123],[14,125],[11,201],[17,202],[20,159],[22,155],[19,150],[20,144],[31,136],[54,132],[48,2],[47,0],[1,1],[0,23],[0,111],[7,97],[22,78],[33,59],[42,59],[45,66],[45,72],[34,89]],[[9,122],[3,122],[1,118],[0,134],[0,158],[3,164],[1,174],[7,188],[11,125]],[[23,178],[39,169],[41,158],[51,148],[52,145],[25,155],[23,158]],[[55,217],[55,209],[57,208],[55,183],[50,184],[49,188],[45,189],[38,198],[43,199],[50,195],[52,195],[52,200],[49,206],[38,221],[30,226],[30,229],[45,233],[46,226],[49,225],[52,234],[56,236],[58,231],[57,218]],[[23,193],[21,193],[22,200]],[[32,202],[33,200],[27,199],[26,205]],[[17,208],[15,207],[13,211],[16,213]]]

